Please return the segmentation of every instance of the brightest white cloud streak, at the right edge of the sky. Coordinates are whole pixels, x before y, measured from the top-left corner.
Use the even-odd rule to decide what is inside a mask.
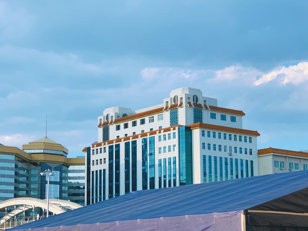
[[[308,80],[308,62],[300,62],[297,65],[289,67],[278,67],[274,71],[261,76],[253,84],[255,86],[268,83],[277,77],[281,77],[282,84],[293,83],[299,84]]]

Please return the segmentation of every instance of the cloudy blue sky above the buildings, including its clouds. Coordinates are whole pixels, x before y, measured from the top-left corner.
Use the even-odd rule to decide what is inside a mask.
[[[195,87],[243,110],[258,148],[308,149],[308,2],[1,1],[0,143],[71,157],[97,117]]]

